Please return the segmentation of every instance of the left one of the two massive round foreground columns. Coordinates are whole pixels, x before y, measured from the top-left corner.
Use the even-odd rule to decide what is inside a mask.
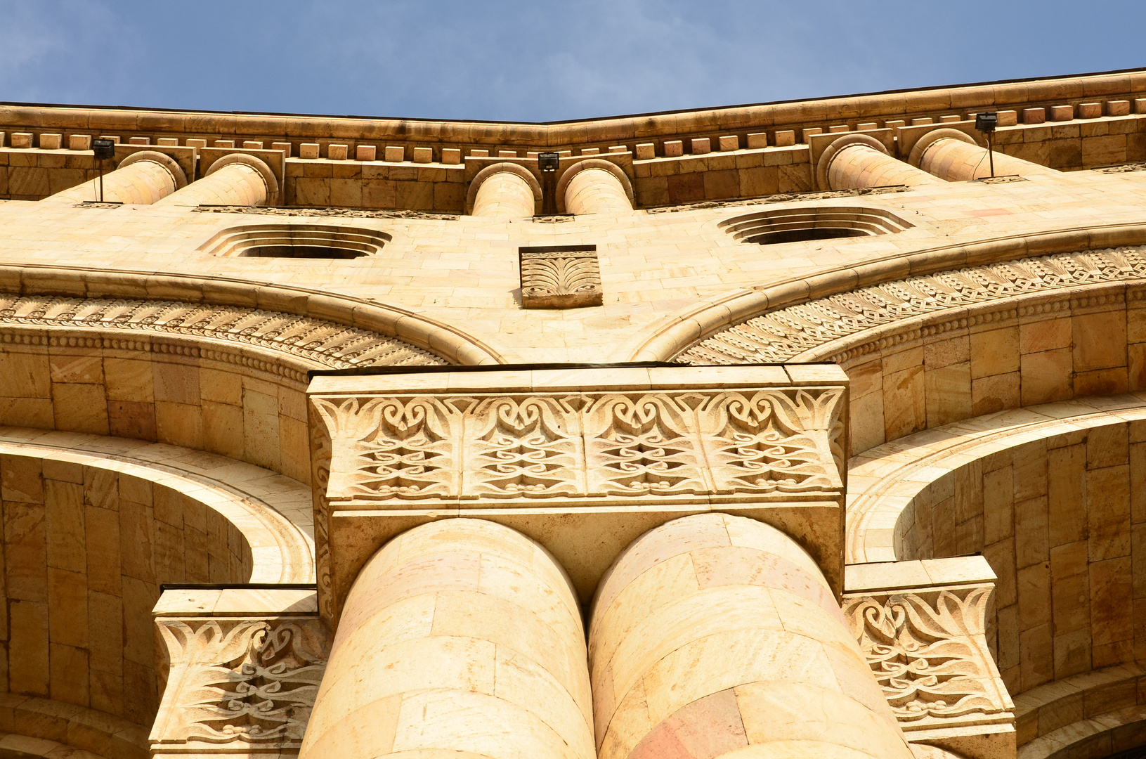
[[[301,759],[595,759],[581,615],[541,546],[481,519],[410,530],[344,607]]]

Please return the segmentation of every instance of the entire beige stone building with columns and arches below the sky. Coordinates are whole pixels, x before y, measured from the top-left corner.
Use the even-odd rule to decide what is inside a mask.
[[[1146,745],[1146,71],[8,104],[0,198],[0,757]]]

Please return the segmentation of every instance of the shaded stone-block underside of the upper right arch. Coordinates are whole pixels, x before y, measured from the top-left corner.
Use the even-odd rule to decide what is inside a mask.
[[[885,329],[874,345],[854,341],[858,355],[842,361],[851,453],[1007,408],[1146,386],[1146,288],[1012,303]]]

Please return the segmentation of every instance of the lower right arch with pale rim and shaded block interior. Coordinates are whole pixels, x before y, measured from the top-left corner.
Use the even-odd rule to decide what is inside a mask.
[[[1143,743],[1144,430],[1140,394],[1083,398],[851,460],[849,564],[981,551],[998,576],[988,641],[1017,696],[1021,756]]]

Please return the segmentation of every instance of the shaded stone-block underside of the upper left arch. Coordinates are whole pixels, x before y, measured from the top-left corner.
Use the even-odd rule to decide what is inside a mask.
[[[309,482],[300,384],[178,350],[61,345],[46,334],[0,344],[0,424],[168,443]]]

